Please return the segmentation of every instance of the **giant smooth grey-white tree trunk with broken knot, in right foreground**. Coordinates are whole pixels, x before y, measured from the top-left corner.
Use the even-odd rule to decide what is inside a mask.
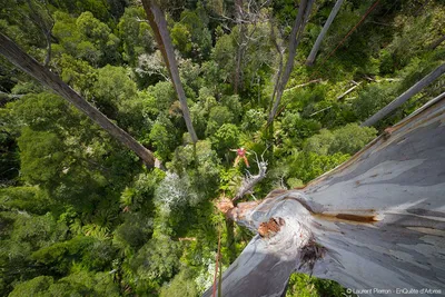
[[[373,288],[387,289],[384,296],[399,296],[397,288],[443,294],[444,122],[438,98],[305,188],[229,209],[260,235],[225,271],[222,296],[281,296],[296,270],[359,296],[375,296]]]

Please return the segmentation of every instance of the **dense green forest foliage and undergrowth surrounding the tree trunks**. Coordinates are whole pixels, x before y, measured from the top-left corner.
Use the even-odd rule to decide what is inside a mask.
[[[444,44],[431,44],[445,33],[445,6],[380,1],[322,65],[373,2],[345,0],[309,68],[304,61],[335,2],[316,1],[270,136],[265,123],[279,62],[270,26],[286,44],[295,1],[254,9],[245,24],[236,22],[234,1],[162,1],[200,139],[194,146],[138,2],[0,0],[0,30],[40,62],[48,60],[51,71],[168,168],[146,169],[90,119],[0,58],[2,296],[197,296],[212,283],[218,231],[222,269],[251,238],[215,207],[236,192],[246,169],[243,162],[233,168],[230,149],[261,154],[273,138],[267,178],[255,191],[264,197],[333,169],[443,91],[444,78],[375,128],[360,128],[443,63]],[[298,87],[314,79],[320,81]],[[360,85],[339,98],[353,80]],[[293,275],[287,296],[342,296],[342,288]]]

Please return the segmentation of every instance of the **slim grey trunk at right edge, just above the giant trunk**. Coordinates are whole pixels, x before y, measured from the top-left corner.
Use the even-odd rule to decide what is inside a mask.
[[[389,105],[382,108],[377,113],[365,120],[360,126],[368,127],[375,125],[377,121],[382,120],[395,109],[399,108],[403,103],[405,103],[409,98],[414,95],[418,93],[423,88],[432,83],[438,77],[441,77],[445,72],[445,63],[437,67],[433,72],[417,81],[413,87],[411,87],[407,91],[402,93],[399,97],[394,99]]]

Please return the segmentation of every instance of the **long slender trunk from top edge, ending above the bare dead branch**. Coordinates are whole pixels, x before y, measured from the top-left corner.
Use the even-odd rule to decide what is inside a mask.
[[[279,77],[279,80],[274,90],[274,95],[273,95],[274,106],[270,109],[269,117],[267,119],[267,125],[270,125],[274,121],[275,115],[277,113],[279,103],[281,101],[283,92],[286,88],[287,81],[290,78],[290,72],[294,69],[294,62],[295,62],[294,60],[295,60],[297,47],[299,44],[299,41],[301,40],[303,30],[305,29],[306,21],[307,21],[307,18],[309,17],[313,3],[314,3],[314,0],[301,0],[299,3],[298,14],[295,19],[295,23],[294,23],[294,27],[293,27],[293,30],[291,30],[290,37],[289,37],[288,57],[287,57],[286,66],[283,71],[278,70],[279,72],[283,72],[283,73]],[[274,96],[275,96],[275,98],[274,98]]]

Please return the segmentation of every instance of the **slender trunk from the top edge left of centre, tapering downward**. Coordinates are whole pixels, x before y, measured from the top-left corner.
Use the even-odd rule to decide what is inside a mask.
[[[142,4],[148,17],[148,22],[154,30],[155,39],[158,43],[159,50],[162,53],[168,72],[170,73],[176,93],[178,95],[187,130],[190,133],[191,141],[196,143],[198,141],[198,137],[196,136],[194,125],[191,122],[190,111],[188,109],[186,93],[184,91],[182,83],[179,77],[179,69],[176,62],[171,39],[168,33],[166,18],[164,16],[164,12],[155,3],[154,0],[142,0]]]

